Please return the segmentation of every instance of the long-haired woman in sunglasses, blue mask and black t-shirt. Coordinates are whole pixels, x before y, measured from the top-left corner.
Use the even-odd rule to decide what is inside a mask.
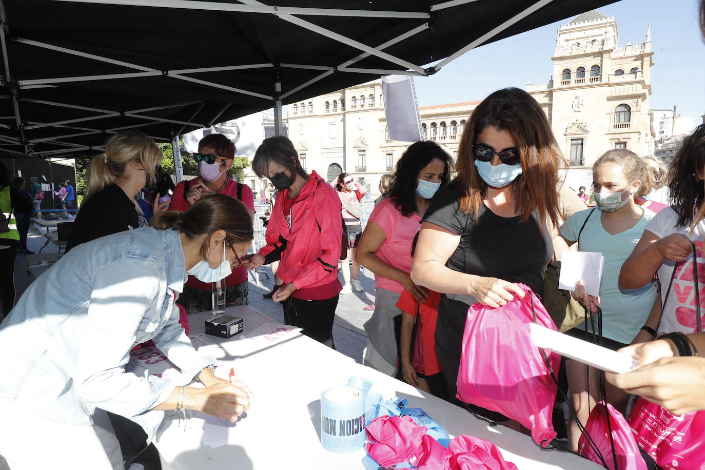
[[[470,116],[460,141],[458,177],[431,201],[411,271],[415,283],[443,294],[436,346],[450,397],[456,394],[470,304],[500,307],[515,295],[523,297],[513,283],[543,293],[552,254],[545,220],[556,225],[562,167],[565,160],[546,113],[527,92],[500,89]]]

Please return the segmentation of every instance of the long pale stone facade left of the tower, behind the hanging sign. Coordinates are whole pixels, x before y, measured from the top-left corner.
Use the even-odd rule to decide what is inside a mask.
[[[479,101],[421,106],[424,140],[434,140],[458,155],[460,135]],[[376,198],[379,179],[391,173],[412,142],[389,139],[381,80],[290,104],[284,116],[288,137],[302,166],[331,182],[345,171],[364,182]],[[255,178],[247,175],[247,181]],[[255,190],[259,190],[257,182]]]

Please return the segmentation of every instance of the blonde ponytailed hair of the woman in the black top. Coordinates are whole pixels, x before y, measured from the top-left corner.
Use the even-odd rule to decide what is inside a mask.
[[[90,162],[83,201],[104,187],[117,183],[125,173],[125,166],[133,160],[145,168],[147,185],[152,184],[155,168],[161,161],[161,151],[154,140],[137,130],[112,135],[105,142],[105,153],[94,156]]]

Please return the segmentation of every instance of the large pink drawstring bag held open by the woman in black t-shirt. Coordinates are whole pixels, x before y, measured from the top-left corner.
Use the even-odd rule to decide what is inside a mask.
[[[556,437],[551,416],[556,381],[548,372],[541,350],[534,346],[529,324],[556,330],[539,298],[524,284],[526,293],[496,309],[473,304],[467,311],[458,395],[465,403],[499,412],[532,430],[532,438],[546,447]],[[560,356],[546,351],[558,371]]]

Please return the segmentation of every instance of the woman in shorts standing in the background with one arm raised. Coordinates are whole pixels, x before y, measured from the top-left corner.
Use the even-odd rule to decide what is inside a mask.
[[[345,228],[348,230],[348,257],[341,261],[341,271],[343,271],[343,290],[341,294],[350,294],[355,288],[355,292],[362,292],[362,284],[357,280],[360,276],[360,263],[357,262],[355,252],[357,252],[357,244],[360,243],[362,236],[362,198],[367,194],[367,189],[357,182],[353,175],[341,173],[336,181],[336,191],[338,197],[341,198],[341,214],[345,221]],[[353,268],[350,269],[350,259],[353,259]],[[350,271],[353,271],[353,279],[350,279]]]

